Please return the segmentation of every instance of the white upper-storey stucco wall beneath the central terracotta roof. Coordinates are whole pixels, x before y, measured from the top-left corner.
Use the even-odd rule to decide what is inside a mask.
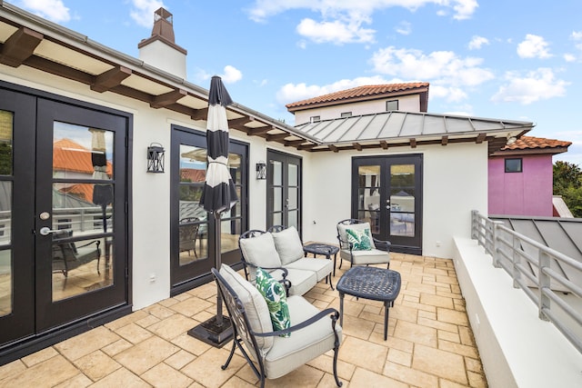
[[[295,124],[308,123],[311,117],[316,115],[320,116],[321,120],[329,120],[341,117],[341,114],[344,112],[351,112],[352,115],[386,112],[386,101],[393,100],[398,100],[399,111],[420,112],[420,95],[402,95],[399,97],[382,98],[375,101],[362,101],[359,103],[347,103],[298,111],[295,113]]]

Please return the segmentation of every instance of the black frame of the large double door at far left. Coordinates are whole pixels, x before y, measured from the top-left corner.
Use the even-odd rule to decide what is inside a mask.
[[[24,108],[24,112],[21,111],[20,114],[17,115],[14,123],[15,134],[13,146],[15,150],[15,167],[13,176],[15,184],[14,191],[16,193],[14,196],[18,195],[18,200],[15,201],[13,198],[12,246],[17,250],[17,257],[13,254],[13,263],[15,264],[15,281],[13,282],[13,288],[15,286],[23,286],[28,290],[22,293],[13,291],[15,309],[12,314],[0,317],[0,333],[2,333],[0,336],[0,364],[4,364],[27,354],[44,349],[54,343],[64,341],[65,339],[79,333],[84,333],[97,325],[111,322],[132,312],[132,284],[130,276],[132,265],[130,260],[132,257],[132,210],[127,206],[127,198],[131,197],[132,190],[131,170],[126,168],[126,166],[128,165],[127,161],[132,158],[131,144],[133,136],[133,114],[128,114],[96,104],[85,103],[61,95],[54,95],[52,93],[47,93],[22,85],[10,84],[5,81],[0,81],[0,94],[2,94],[0,100],[3,104],[15,103],[15,111],[19,107]],[[37,281],[35,280],[35,238],[38,229],[37,226],[39,225],[37,223],[38,217],[36,214],[38,211],[38,204],[35,204],[35,197],[38,196],[36,192],[36,178],[38,178],[38,174],[35,170],[34,159],[37,152],[48,152],[47,150],[37,150],[36,145],[46,144],[46,146],[51,147],[52,149],[52,141],[37,144],[37,142],[42,139],[39,138],[36,142],[31,140],[35,139],[35,134],[40,131],[40,120],[38,123],[36,122],[36,105],[40,100],[53,103],[53,107],[58,104],[65,104],[79,110],[85,109],[85,112],[111,114],[121,116],[126,120],[123,139],[120,144],[115,144],[115,147],[117,147],[115,152],[118,153],[118,157],[123,160],[118,160],[120,162],[118,168],[123,168],[125,170],[123,174],[118,175],[123,177],[120,178],[118,182],[118,188],[123,188],[123,190],[119,193],[121,196],[121,204],[118,204],[119,209],[115,209],[117,217],[125,220],[121,227],[115,229],[115,234],[124,234],[123,238],[117,238],[119,250],[115,258],[117,261],[123,263],[123,267],[119,271],[121,276],[120,279],[123,284],[123,300],[116,300],[117,298],[115,298],[115,301],[112,303],[105,303],[106,305],[103,303],[97,303],[96,309],[91,313],[85,312],[73,316],[65,314],[66,322],[55,323],[56,325],[54,327],[45,330],[37,330],[35,326],[35,314],[43,312],[35,311],[35,297],[38,296],[38,290],[35,292],[35,289],[37,288]],[[22,144],[25,144],[26,148],[25,152],[21,153],[19,151],[22,151]],[[18,193],[21,194],[19,195]],[[23,214],[30,215],[26,216]],[[47,261],[50,262],[50,259],[47,259]],[[99,292],[96,292],[95,294],[98,293]],[[103,296],[103,293],[101,293],[101,296]],[[95,298],[95,296],[92,296],[91,298]],[[106,299],[107,298],[105,298],[105,300]],[[64,308],[69,310],[73,309],[75,308],[75,303],[77,303],[77,301],[72,304],[63,303],[69,304],[68,307],[64,306]],[[91,303],[91,300],[89,303]],[[59,311],[59,308],[61,307],[62,305],[59,305],[56,310]],[[60,312],[61,311],[59,311],[59,313]],[[22,325],[25,327],[26,331],[8,337],[9,331],[7,328],[12,327],[15,324]],[[29,330],[31,327],[32,333]]]

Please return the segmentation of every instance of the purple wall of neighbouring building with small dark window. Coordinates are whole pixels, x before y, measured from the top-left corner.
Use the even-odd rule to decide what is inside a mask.
[[[522,173],[506,173],[505,159],[523,160]],[[541,215],[551,217],[552,155],[489,157],[489,214]]]

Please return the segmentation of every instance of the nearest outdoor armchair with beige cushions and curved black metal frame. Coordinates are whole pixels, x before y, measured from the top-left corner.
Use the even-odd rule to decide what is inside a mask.
[[[238,349],[263,388],[266,379],[284,376],[333,350],[334,377],[337,386],[342,385],[337,378],[342,328],[336,323],[339,316],[336,309],[319,311],[302,296],[289,296],[286,303],[291,326],[274,331],[266,300],[253,284],[226,264],[222,264],[220,272],[213,268],[212,274],[233,325],[233,345],[221,366],[223,370]],[[286,334],[289,336],[282,336]]]

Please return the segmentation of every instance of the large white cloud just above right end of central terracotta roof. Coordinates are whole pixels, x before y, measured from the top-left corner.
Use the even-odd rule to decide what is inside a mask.
[[[467,98],[466,89],[481,85],[495,75],[481,67],[482,58],[460,57],[452,51],[424,54],[415,49],[389,46],[376,51],[371,62],[383,75],[430,82],[430,95],[459,102]]]

